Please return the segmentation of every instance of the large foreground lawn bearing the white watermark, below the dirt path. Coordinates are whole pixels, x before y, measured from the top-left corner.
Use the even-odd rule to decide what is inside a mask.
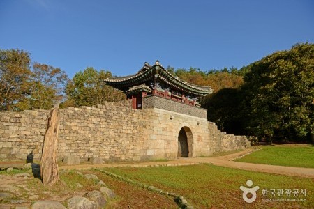
[[[105,170],[167,192],[175,192],[184,196],[195,208],[314,207],[314,180],[311,178],[243,171],[211,164],[182,167],[122,167]],[[260,187],[257,191],[257,199],[253,203],[244,202],[239,189],[241,185],[246,186],[247,180],[253,180],[253,187],[255,185]],[[306,189],[306,196],[297,197],[306,201],[265,201],[263,198],[280,197],[263,197],[262,189],[299,189],[299,191]]]

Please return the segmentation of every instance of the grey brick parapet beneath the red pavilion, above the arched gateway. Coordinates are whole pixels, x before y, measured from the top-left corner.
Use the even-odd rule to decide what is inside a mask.
[[[148,95],[143,98],[143,108],[158,108],[168,111],[174,111],[189,116],[195,116],[199,118],[207,118],[207,110],[194,107],[174,100],[161,98],[156,95]]]

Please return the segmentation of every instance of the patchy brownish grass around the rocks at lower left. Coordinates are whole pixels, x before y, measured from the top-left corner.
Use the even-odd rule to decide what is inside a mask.
[[[0,195],[0,208],[15,208],[18,204],[11,203],[11,200],[24,200],[25,208],[37,200],[57,200],[67,204],[67,199],[73,196],[85,196],[87,192],[99,190],[100,185],[97,180],[88,180],[75,170],[61,171],[59,183],[53,187],[45,187],[38,178],[14,178],[15,174],[25,173],[25,171],[14,169],[13,171],[0,171],[0,193],[9,192],[6,188],[13,188],[15,192],[10,192],[9,199],[3,199]],[[94,171],[81,171],[81,173],[95,173]],[[11,176],[11,180],[3,180],[1,176]],[[156,194],[142,187],[136,187],[117,178],[111,178],[103,173],[97,173],[98,178],[105,182],[117,194],[117,197],[107,203],[106,209],[111,208],[178,208],[177,203],[169,196]],[[78,186],[77,184],[80,184]],[[4,187],[1,187],[3,186]],[[17,190],[18,192],[17,192]],[[38,195],[35,199],[31,198]],[[43,208],[44,209],[44,208]]]

